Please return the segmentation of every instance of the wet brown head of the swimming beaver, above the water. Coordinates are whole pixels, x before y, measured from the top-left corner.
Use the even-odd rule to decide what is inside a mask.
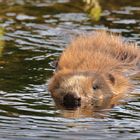
[[[60,71],[51,79],[49,91],[60,104],[77,107],[82,102],[93,104],[111,98],[124,92],[127,84],[122,76],[109,73]]]

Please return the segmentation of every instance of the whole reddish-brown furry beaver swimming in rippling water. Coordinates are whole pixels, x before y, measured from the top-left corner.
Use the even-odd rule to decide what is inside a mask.
[[[140,66],[140,48],[120,35],[95,31],[74,39],[61,54],[48,89],[67,107],[120,96],[132,86],[128,73]]]

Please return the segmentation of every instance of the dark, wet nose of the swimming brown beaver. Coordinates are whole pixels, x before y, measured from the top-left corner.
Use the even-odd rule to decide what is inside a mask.
[[[78,107],[81,105],[81,98],[73,93],[68,93],[63,98],[63,104],[69,108]]]

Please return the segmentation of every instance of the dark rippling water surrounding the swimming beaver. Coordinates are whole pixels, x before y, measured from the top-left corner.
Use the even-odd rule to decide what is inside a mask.
[[[139,0],[97,2],[0,0],[1,140],[140,139],[139,75],[131,99],[106,117],[57,109],[47,91],[51,63],[76,35],[106,29],[140,44]]]

